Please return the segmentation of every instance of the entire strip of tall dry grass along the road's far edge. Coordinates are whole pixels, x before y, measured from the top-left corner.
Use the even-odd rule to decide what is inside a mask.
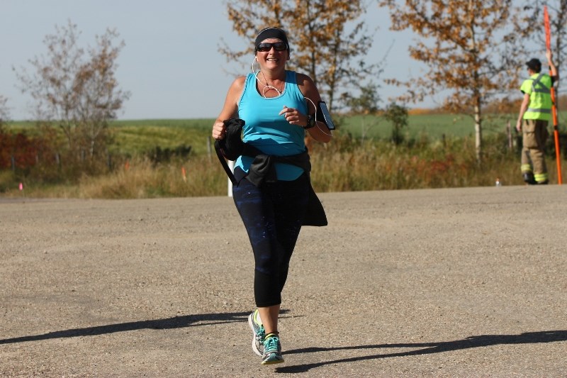
[[[310,150],[311,179],[316,191],[369,191],[442,187],[523,184],[520,157],[508,150],[503,135],[487,138],[481,167],[476,162],[473,138],[392,143],[353,140],[335,134],[327,145]],[[556,162],[547,157],[550,181],[556,183]],[[563,171],[566,162],[562,161]],[[18,189],[23,182],[24,190]],[[23,179],[0,172],[2,196],[83,199],[142,199],[172,196],[225,196],[227,177],[217,158],[191,155],[186,160],[153,165],[145,157],[120,163],[112,172],[84,174],[76,182],[35,182],[33,171]]]

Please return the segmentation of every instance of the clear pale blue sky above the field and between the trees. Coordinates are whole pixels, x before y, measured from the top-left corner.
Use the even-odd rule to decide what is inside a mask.
[[[371,1],[365,16],[369,28],[378,27],[369,62],[388,55],[387,77],[415,77],[422,66],[408,57],[410,33],[391,32],[388,14]],[[117,79],[130,91],[119,119],[215,118],[234,73],[246,74],[237,63],[228,63],[218,46],[220,38],[242,50],[247,41],[228,22],[221,0],[1,0],[0,94],[8,98],[11,118],[30,117],[31,98],[16,88],[12,67],[27,67],[28,60],[45,55],[45,35],[55,25],[70,20],[82,32],[80,45],[94,45],[95,35],[116,28],[125,48],[118,57]],[[251,56],[252,59],[252,56]],[[381,96],[403,89],[383,86]],[[422,106],[432,106],[426,102]]]

